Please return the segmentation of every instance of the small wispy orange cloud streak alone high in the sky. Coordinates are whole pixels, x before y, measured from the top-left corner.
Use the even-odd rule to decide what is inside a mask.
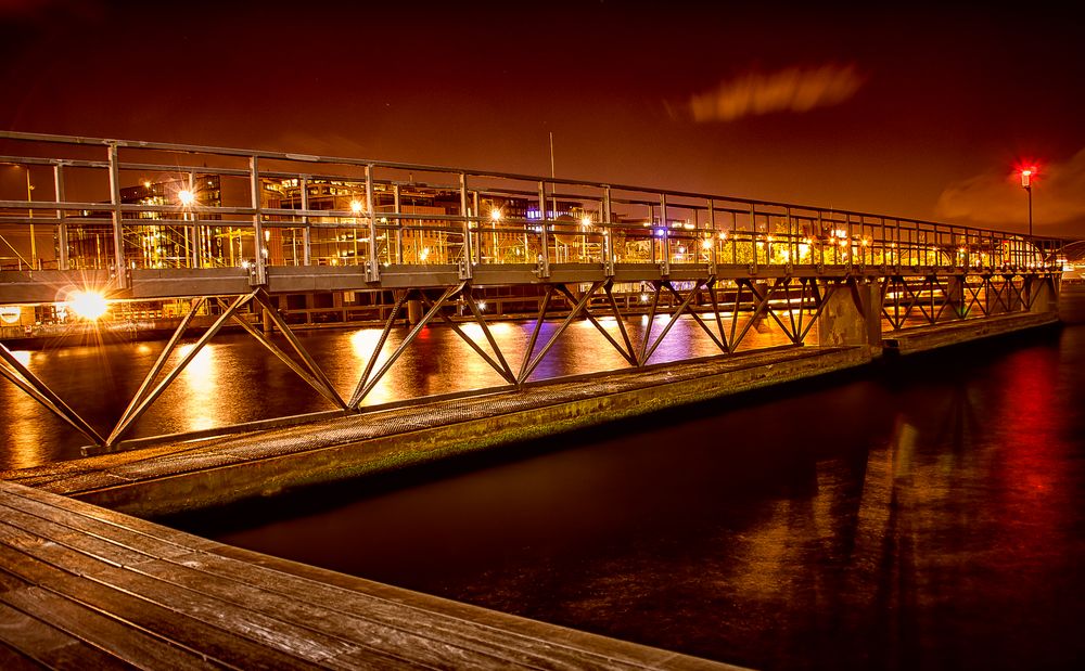
[[[774,112],[809,112],[839,105],[865,81],[854,65],[789,67],[769,75],[748,73],[704,93],[690,96],[687,109],[694,121],[735,121]]]

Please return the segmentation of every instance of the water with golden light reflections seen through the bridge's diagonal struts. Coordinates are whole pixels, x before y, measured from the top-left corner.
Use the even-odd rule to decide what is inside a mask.
[[[746,319],[742,318],[743,324]],[[666,315],[656,317],[652,325],[653,339],[662,333],[667,320]],[[647,322],[644,317],[626,323],[635,347],[639,347]],[[614,340],[623,343],[616,320],[602,319],[600,323]],[[534,321],[488,324],[514,373],[520,371],[534,325]],[[536,356],[559,325],[560,322],[544,323],[535,344]],[[774,326],[762,320],[755,328],[751,328],[740,349],[787,344],[787,336]],[[477,324],[464,323],[460,324],[460,328],[496,360]],[[725,328],[728,328],[726,321]],[[301,333],[299,338],[340,395],[348,399],[370,362],[381,333],[381,328],[311,331]],[[407,333],[408,330],[403,326],[392,330],[373,365],[373,374],[388,361]],[[816,337],[816,333],[810,337]],[[194,339],[190,339],[177,348],[159,379],[191,351]],[[279,345],[284,350],[290,349],[281,337]],[[99,433],[105,435],[136,395],[143,375],[163,347],[164,343],[119,343],[34,352],[16,350],[15,356]],[[680,361],[717,353],[719,350],[701,327],[684,317],[677,320],[650,362]],[[531,379],[625,367],[628,363],[602,334],[588,321],[577,320],[553,344]],[[434,325],[419,333],[362,404],[379,405],[505,384],[505,378],[450,327]],[[11,427],[0,437],[0,470],[76,459],[80,454],[79,448],[88,444],[88,439],[9,382],[0,380],[0,393],[4,399],[0,407],[0,426]],[[330,401],[248,335],[219,334],[177,376],[176,382],[126,437],[178,434],[333,409]]]

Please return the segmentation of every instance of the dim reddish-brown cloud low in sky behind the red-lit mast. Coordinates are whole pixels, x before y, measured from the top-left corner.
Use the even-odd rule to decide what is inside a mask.
[[[1085,149],[1069,160],[1039,166],[1033,188],[1036,234],[1085,237]],[[991,228],[1024,230],[1027,198],[1019,176],[988,172],[950,184],[939,197],[940,219]]]

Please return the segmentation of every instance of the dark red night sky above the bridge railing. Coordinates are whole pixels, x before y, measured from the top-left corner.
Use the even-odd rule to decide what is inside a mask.
[[[818,3],[0,0],[0,127],[1085,236],[1085,22]],[[926,9],[924,9],[926,8]]]

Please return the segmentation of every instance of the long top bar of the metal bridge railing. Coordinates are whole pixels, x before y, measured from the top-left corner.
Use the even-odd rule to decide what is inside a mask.
[[[788,209],[813,210],[813,211],[818,211],[818,212],[828,211],[828,212],[840,214],[840,215],[845,215],[845,216],[873,217],[873,218],[882,219],[882,220],[885,220],[885,221],[907,222],[907,223],[916,223],[916,224],[928,224],[928,225],[934,225],[934,227],[949,227],[949,228],[961,229],[961,230],[967,230],[967,231],[980,231],[980,232],[985,232],[985,233],[997,233],[997,234],[1001,234],[1001,235],[1010,234],[1010,235],[1020,236],[1021,238],[1027,237],[1027,235],[1025,235],[1023,233],[1014,233],[1014,232],[1010,232],[1010,231],[998,231],[998,230],[995,230],[995,229],[982,229],[982,228],[976,228],[976,227],[953,224],[953,223],[947,223],[947,222],[930,221],[930,220],[926,220],[926,219],[914,219],[914,218],[910,218],[910,217],[896,217],[896,216],[884,215],[884,214],[864,212],[864,211],[839,209],[839,208],[832,208],[832,207],[819,207],[819,206],[816,206],[816,205],[804,205],[804,204],[799,204],[799,203],[781,203],[781,202],[776,202],[776,201],[760,201],[760,199],[745,198],[745,197],[740,197],[740,196],[724,196],[724,195],[718,195],[718,194],[706,194],[706,193],[697,193],[697,192],[687,192],[687,191],[672,191],[672,190],[660,189],[660,188],[635,186],[635,185],[628,185],[628,184],[613,184],[613,183],[593,182],[593,181],[586,181],[586,180],[574,180],[574,179],[564,179],[564,178],[550,178],[550,177],[537,176],[537,175],[521,175],[521,173],[515,173],[515,172],[494,172],[494,171],[487,171],[487,170],[481,170],[481,169],[474,169],[474,168],[457,168],[457,167],[450,167],[450,166],[434,166],[434,165],[427,165],[427,164],[408,164],[408,163],[396,163],[396,162],[387,162],[387,160],[372,160],[372,159],[362,159],[362,158],[349,158],[349,157],[342,157],[342,156],[318,156],[318,155],[315,155],[315,154],[301,154],[301,153],[292,153],[292,152],[270,152],[270,151],[266,151],[266,150],[242,150],[242,149],[234,149],[234,147],[205,146],[205,145],[194,145],[194,144],[176,144],[176,143],[165,143],[165,142],[148,142],[148,141],[143,141],[143,140],[118,140],[118,139],[106,139],[106,138],[88,138],[88,137],[82,137],[82,136],[62,136],[62,134],[52,134],[52,133],[33,133],[33,132],[21,132],[21,131],[13,131],[13,130],[0,130],[0,140],[15,140],[15,141],[24,141],[24,142],[48,142],[48,143],[55,143],[55,144],[76,144],[76,145],[86,145],[86,146],[93,146],[93,145],[116,146],[118,149],[123,147],[123,149],[146,150],[146,151],[184,152],[184,153],[190,153],[190,154],[218,154],[218,155],[224,155],[224,156],[237,156],[237,157],[245,157],[245,158],[254,158],[255,157],[255,158],[265,158],[265,159],[270,159],[270,160],[294,160],[294,162],[305,162],[305,163],[353,165],[353,166],[359,166],[359,167],[371,166],[371,167],[388,168],[388,169],[394,169],[394,170],[418,170],[418,171],[424,171],[424,172],[460,173],[460,175],[464,175],[467,177],[486,177],[486,178],[497,178],[497,179],[510,179],[510,180],[519,180],[519,181],[544,182],[544,183],[548,183],[548,184],[564,184],[564,185],[570,185],[570,186],[587,186],[587,188],[595,188],[595,189],[611,189],[611,190],[617,190],[617,191],[634,191],[634,192],[641,192],[641,193],[659,193],[659,194],[664,194],[665,193],[668,196],[677,196],[677,197],[684,197],[684,198],[712,199],[712,201],[720,201],[720,202],[726,202],[726,203],[741,203],[743,205],[750,205],[750,206],[753,206],[753,207],[765,206],[765,207],[782,207],[782,208],[788,208]],[[12,157],[8,157],[8,158],[12,158]],[[22,160],[23,163],[38,163],[38,160],[39,160],[37,158],[30,158],[30,157],[28,157],[26,160],[18,159],[17,157],[15,157],[15,158],[17,160]],[[55,159],[41,159],[41,160],[44,160],[46,163],[56,163]],[[0,158],[0,163],[10,163],[10,160],[5,160],[3,158]],[[89,163],[89,162],[85,162],[85,163]],[[208,169],[208,172],[215,172],[215,171],[216,171],[216,169],[214,169],[214,168]],[[280,171],[276,171],[276,173],[279,173],[279,172]],[[552,194],[552,196],[553,197],[582,197],[582,196],[576,196],[575,194],[569,194],[569,195],[564,195],[564,196],[561,195],[561,194]],[[680,203],[679,204],[668,204],[668,206],[671,206],[671,207],[678,207],[678,208],[689,207],[688,205],[680,204]],[[760,214],[771,215],[770,212],[760,212]],[[792,216],[795,216],[794,212],[792,212]],[[865,224],[865,225],[877,225],[877,224],[873,224],[873,223],[870,223],[870,222],[855,222],[855,223]],[[1039,237],[1039,236],[1033,236],[1033,237]],[[1061,238],[1054,238],[1052,237],[1050,240],[1061,240]]]

